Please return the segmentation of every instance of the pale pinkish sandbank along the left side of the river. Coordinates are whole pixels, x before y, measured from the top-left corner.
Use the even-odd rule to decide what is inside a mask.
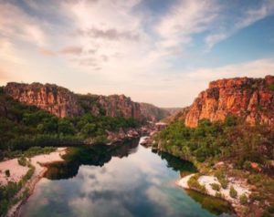
[[[26,181],[20,191],[16,193],[16,203],[9,207],[6,216],[18,216],[20,206],[26,202],[27,197],[34,191],[37,181],[39,181],[47,171],[46,165],[56,161],[62,161],[62,156],[66,154],[67,148],[58,148],[49,154],[40,154],[29,159],[30,165],[34,168],[31,178]],[[5,160],[0,162],[0,184],[7,185],[9,181],[18,183],[25,176],[29,167],[19,164],[18,159]],[[9,176],[6,175],[9,171]]]

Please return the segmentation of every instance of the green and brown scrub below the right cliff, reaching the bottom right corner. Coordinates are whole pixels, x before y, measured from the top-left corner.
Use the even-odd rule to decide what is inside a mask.
[[[258,204],[263,216],[273,216],[274,129],[249,126],[236,117],[214,123],[203,119],[195,129],[176,121],[155,139],[161,150],[195,162],[202,173],[214,174],[224,189],[227,189],[227,176],[246,179],[253,186],[249,201],[246,195],[237,195],[234,189],[229,189],[230,195],[239,197],[242,204]],[[224,162],[223,166],[217,169],[215,165],[220,161]],[[195,178],[190,184],[199,189]],[[254,207],[247,206],[247,216],[252,215]]]

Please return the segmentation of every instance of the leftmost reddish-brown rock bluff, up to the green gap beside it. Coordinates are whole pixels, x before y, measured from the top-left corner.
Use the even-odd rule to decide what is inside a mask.
[[[59,118],[79,116],[83,113],[75,95],[67,88],[57,85],[11,82],[5,86],[5,93],[22,103],[45,109]]]

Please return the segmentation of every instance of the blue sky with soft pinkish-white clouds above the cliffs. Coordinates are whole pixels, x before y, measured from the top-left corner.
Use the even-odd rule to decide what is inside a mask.
[[[2,86],[184,107],[211,80],[266,75],[274,0],[0,0]]]

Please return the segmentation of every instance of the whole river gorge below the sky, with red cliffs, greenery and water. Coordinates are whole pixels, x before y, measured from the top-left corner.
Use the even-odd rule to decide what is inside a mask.
[[[11,213],[109,216],[116,208],[117,216],[271,214],[273,86],[272,76],[216,80],[189,107],[163,109],[124,95],[80,95],[57,85],[8,83],[0,91],[1,159],[26,161],[31,171],[33,156],[69,147],[64,161],[42,165],[47,170],[33,194],[28,200],[27,192],[20,194],[26,204]],[[157,129],[159,120],[167,124]],[[142,135],[150,136],[145,144],[150,148],[139,144]],[[15,175],[12,168],[7,171],[1,171],[1,188],[12,192],[1,196],[1,214],[13,205],[6,200],[32,181],[30,175],[20,184],[7,183]],[[178,177],[177,184],[195,191],[177,191]],[[215,181],[216,190],[206,179]],[[89,189],[82,188],[86,185]],[[236,188],[236,198],[226,186]],[[127,193],[134,200],[128,201]],[[114,198],[120,199],[110,203]],[[110,209],[99,209],[106,204]]]

